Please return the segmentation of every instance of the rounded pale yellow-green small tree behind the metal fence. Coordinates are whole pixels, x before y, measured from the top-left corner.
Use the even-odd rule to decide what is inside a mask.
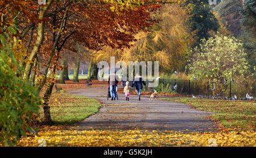
[[[222,93],[227,82],[236,78],[244,80],[249,65],[242,43],[234,37],[216,36],[202,40],[200,48],[193,50],[190,72],[196,78],[216,84],[216,91]]]

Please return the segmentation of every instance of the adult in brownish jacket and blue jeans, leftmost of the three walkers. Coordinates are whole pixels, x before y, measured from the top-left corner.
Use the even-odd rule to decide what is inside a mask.
[[[109,83],[111,100],[115,100],[115,97],[117,97],[117,83],[118,83],[118,75],[115,74],[115,71],[112,71],[112,74],[109,75],[108,83]]]

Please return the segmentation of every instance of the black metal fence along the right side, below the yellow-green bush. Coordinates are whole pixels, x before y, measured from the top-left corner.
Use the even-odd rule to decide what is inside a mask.
[[[175,86],[176,85],[176,86]],[[256,82],[230,81],[211,83],[203,80],[175,80],[159,79],[159,86],[154,88],[158,92],[174,92],[182,95],[194,95],[216,98],[246,99],[246,94],[256,97]],[[146,88],[146,91],[150,89]]]

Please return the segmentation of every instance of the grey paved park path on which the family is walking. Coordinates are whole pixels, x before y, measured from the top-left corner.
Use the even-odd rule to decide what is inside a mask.
[[[102,103],[100,111],[80,122],[80,129],[144,129],[176,131],[216,131],[212,113],[193,109],[181,103],[164,100],[150,101],[149,96],[130,96],[119,93],[119,100],[107,100],[106,87],[92,87],[71,91],[77,95],[93,97]]]

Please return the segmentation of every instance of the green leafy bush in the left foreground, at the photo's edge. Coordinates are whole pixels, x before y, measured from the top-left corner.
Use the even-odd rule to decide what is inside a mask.
[[[32,118],[38,112],[39,93],[30,83],[15,74],[17,64],[5,45],[0,52],[0,146],[12,146],[26,132],[34,132]]]

